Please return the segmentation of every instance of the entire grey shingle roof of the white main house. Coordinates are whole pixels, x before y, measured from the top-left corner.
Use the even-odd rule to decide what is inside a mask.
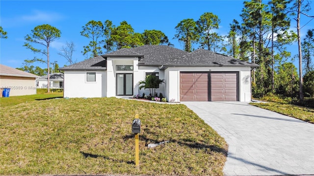
[[[188,53],[166,45],[143,45],[136,48],[119,49],[71,66],[60,68],[60,70],[106,69],[105,59],[107,57],[119,56],[138,57],[139,66],[259,66],[205,49],[198,49]]]

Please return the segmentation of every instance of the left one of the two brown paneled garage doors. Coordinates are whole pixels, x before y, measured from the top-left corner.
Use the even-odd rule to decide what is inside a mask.
[[[180,101],[209,101],[208,73],[180,73]]]

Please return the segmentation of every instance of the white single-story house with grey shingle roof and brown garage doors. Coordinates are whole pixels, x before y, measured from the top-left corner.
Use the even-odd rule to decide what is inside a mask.
[[[175,101],[251,101],[251,69],[257,64],[198,49],[165,45],[123,48],[64,71],[64,97],[132,97],[137,83],[153,74],[164,79],[156,91]]]

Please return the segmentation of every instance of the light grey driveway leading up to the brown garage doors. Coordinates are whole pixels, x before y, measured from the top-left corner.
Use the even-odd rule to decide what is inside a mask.
[[[229,145],[227,176],[314,174],[314,124],[244,102],[184,102]]]

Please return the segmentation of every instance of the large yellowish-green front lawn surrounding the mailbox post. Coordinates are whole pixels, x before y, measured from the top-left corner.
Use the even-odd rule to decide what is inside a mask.
[[[136,113],[142,122],[139,168],[131,133]],[[51,99],[1,107],[0,122],[0,175],[223,176],[228,149],[181,104]]]

